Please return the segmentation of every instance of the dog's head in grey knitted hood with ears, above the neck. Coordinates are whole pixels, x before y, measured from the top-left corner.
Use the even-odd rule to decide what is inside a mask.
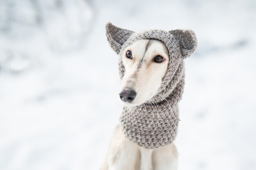
[[[171,81],[183,64],[182,60],[189,57],[197,46],[191,30],[135,33],[108,22],[106,35],[111,48],[120,56],[120,99],[130,105],[142,104],[164,91],[173,83]],[[176,77],[174,84],[181,76]]]

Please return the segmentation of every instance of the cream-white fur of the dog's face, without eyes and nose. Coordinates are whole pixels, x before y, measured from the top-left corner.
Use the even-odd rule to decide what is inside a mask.
[[[121,81],[119,92],[127,88],[134,89],[137,95],[130,103],[132,105],[142,104],[153,97],[157,93],[162,78],[167,71],[169,55],[166,53],[166,46],[162,42],[154,40],[146,50],[148,41],[149,40],[139,40],[133,43],[123,54],[123,62],[126,72]],[[132,52],[132,59],[126,57],[127,50]],[[156,55],[164,57],[164,62],[153,62]],[[143,62],[141,68],[138,69],[138,64],[143,56],[145,62]],[[137,76],[134,78],[134,75]]]

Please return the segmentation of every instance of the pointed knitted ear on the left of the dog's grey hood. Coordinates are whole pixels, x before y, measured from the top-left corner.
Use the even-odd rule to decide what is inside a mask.
[[[130,35],[132,35],[132,33],[134,33],[134,31],[130,31],[127,29],[121,29],[121,28],[111,24],[110,22],[108,22],[105,25],[105,28],[106,28],[106,36],[107,36],[108,43],[109,43],[110,47],[117,54],[119,54],[122,45],[124,44],[124,42],[126,42],[126,40],[128,40]]]

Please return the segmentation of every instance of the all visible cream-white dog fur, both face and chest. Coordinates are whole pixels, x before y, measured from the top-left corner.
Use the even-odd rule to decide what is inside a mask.
[[[150,42],[146,50],[148,41],[139,40],[126,49],[132,51],[132,59],[126,57],[126,51],[123,55],[126,73],[120,84],[120,92],[126,88],[136,91],[131,105],[142,104],[153,97],[167,71],[169,56],[166,46],[155,40]],[[153,62],[156,55],[164,57],[164,62]],[[143,56],[145,62],[138,69]],[[142,148],[127,139],[117,126],[101,170],[177,170],[177,150],[174,144],[157,149]]]

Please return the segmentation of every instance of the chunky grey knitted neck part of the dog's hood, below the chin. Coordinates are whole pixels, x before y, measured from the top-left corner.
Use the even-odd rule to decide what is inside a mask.
[[[182,62],[163,91],[139,106],[124,106],[120,117],[124,135],[144,148],[171,144],[177,135],[178,102],[183,89]]]

